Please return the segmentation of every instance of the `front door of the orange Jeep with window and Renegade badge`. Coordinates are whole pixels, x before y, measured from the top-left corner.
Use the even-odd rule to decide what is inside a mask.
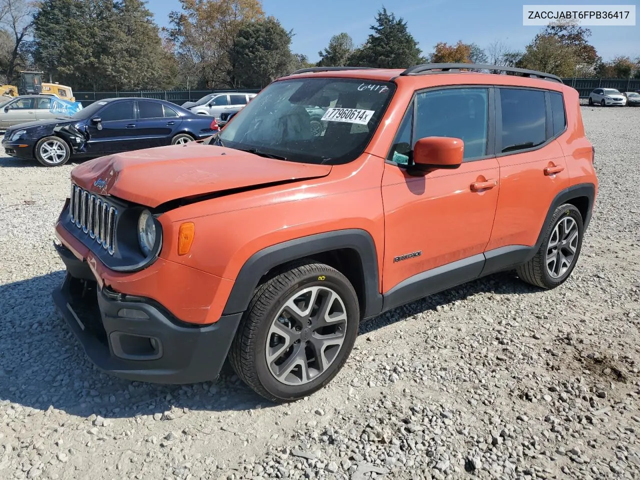
[[[418,92],[403,118],[382,180],[383,292],[395,299],[385,308],[413,300],[416,292],[424,296],[475,278],[483,268],[500,188],[492,92],[490,87]],[[410,175],[406,166],[413,145],[429,136],[461,138],[461,166]],[[477,184],[485,187],[476,189]]]

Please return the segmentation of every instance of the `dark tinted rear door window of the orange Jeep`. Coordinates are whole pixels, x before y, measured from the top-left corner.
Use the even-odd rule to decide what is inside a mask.
[[[500,88],[500,108],[502,109],[500,152],[526,150],[538,147],[547,141],[547,107],[544,92]]]

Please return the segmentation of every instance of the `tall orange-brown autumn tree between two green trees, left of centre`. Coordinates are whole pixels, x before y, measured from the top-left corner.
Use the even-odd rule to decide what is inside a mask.
[[[183,76],[207,88],[229,86],[229,52],[247,22],[264,20],[260,0],[180,0],[169,14],[170,38]]]

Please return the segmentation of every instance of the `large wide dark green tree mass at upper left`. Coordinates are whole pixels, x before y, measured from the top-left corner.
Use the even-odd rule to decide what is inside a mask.
[[[36,64],[75,90],[173,83],[175,60],[141,0],[45,0],[33,36]]]

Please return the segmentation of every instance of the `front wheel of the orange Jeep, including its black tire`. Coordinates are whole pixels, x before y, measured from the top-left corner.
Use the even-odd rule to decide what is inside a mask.
[[[330,301],[329,307],[323,300]],[[316,305],[319,310],[331,308],[332,321],[321,322]],[[291,313],[296,308],[297,318]],[[308,316],[302,315],[304,310]],[[277,403],[296,401],[323,388],[340,371],[353,348],[359,321],[358,297],[346,276],[330,266],[301,260],[255,290],[232,342],[230,364],[260,396]],[[319,330],[334,336],[323,343]],[[321,355],[314,355],[316,348]]]

